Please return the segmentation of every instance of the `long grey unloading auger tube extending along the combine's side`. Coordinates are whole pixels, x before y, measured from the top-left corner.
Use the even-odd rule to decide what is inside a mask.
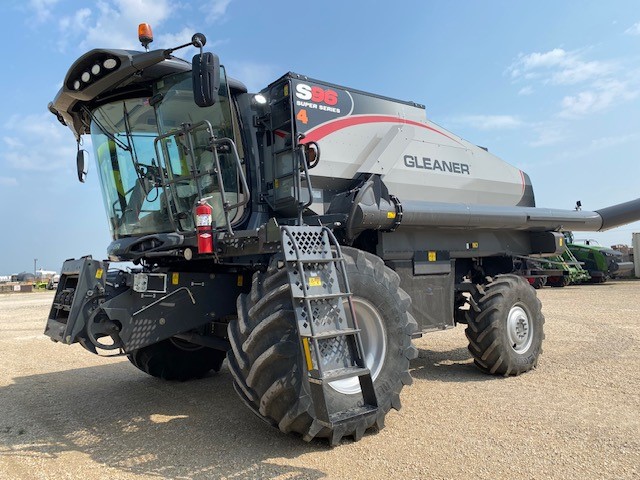
[[[352,209],[351,229],[407,227],[485,228],[530,231],[577,230],[600,232],[640,220],[640,198],[594,212],[537,207],[509,207],[395,201],[359,202]],[[389,208],[396,210],[389,215]],[[401,212],[401,216],[400,216]],[[394,212],[392,212],[394,213]],[[400,219],[398,219],[400,217]]]

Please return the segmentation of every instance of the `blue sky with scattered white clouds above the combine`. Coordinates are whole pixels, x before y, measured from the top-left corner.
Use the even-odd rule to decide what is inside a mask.
[[[429,118],[526,171],[538,206],[595,210],[640,196],[640,8],[627,1],[30,0],[3,2],[0,275],[110,242],[95,168],[48,113],[94,47],[152,48],[201,31],[259,90],[287,71],[427,106]],[[190,55],[186,52],[186,55]],[[631,243],[640,223],[578,234]]]

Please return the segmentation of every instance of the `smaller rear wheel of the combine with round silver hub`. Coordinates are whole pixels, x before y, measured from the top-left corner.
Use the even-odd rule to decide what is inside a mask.
[[[465,333],[476,366],[493,375],[520,375],[542,353],[544,316],[535,290],[517,275],[498,275],[466,314]]]

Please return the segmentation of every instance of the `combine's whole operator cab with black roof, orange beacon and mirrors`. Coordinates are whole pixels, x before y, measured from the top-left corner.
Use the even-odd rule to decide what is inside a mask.
[[[217,57],[203,52],[204,35],[153,51],[150,30],[140,38],[146,52],[83,55],[49,104],[76,136],[80,181],[80,138],[91,135],[114,259],[132,258],[135,244],[136,255],[192,245],[198,204],[211,207],[214,230],[232,233],[249,200],[229,82]],[[200,48],[192,64],[171,55],[191,45]]]

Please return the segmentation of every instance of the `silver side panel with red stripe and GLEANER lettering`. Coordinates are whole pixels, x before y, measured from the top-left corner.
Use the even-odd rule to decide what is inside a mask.
[[[303,142],[322,151],[312,182],[379,174],[401,200],[534,206],[524,172],[428,121],[422,105],[297,75],[280,85]]]

